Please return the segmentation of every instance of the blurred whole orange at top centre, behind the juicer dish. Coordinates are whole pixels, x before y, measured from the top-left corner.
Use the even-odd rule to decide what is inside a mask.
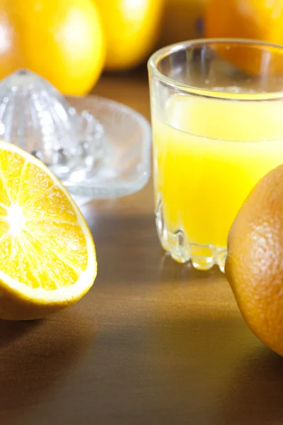
[[[106,69],[137,66],[158,40],[163,0],[93,0],[107,40]]]

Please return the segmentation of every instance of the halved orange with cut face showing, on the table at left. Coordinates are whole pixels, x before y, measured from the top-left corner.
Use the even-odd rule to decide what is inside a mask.
[[[0,141],[0,317],[68,307],[96,272],[91,232],[68,191],[38,159]]]

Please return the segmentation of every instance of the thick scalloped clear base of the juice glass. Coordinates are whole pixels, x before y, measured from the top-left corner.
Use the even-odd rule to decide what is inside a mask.
[[[178,263],[191,261],[192,266],[197,270],[209,270],[217,265],[224,273],[227,249],[211,244],[202,245],[189,242],[182,228],[170,232],[166,227],[161,202],[156,208],[156,228],[163,249],[168,251]]]

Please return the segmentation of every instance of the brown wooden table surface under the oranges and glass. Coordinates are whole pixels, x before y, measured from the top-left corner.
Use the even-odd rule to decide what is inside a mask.
[[[94,91],[149,118],[145,74]],[[283,359],[241,318],[219,271],[163,254],[149,185],[83,208],[98,277],[69,310],[0,322],[0,424],[283,424]]]

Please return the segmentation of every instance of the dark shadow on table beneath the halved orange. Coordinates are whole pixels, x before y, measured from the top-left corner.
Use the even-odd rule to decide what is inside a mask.
[[[58,390],[93,344],[95,324],[73,309],[33,322],[0,321],[1,423]]]

